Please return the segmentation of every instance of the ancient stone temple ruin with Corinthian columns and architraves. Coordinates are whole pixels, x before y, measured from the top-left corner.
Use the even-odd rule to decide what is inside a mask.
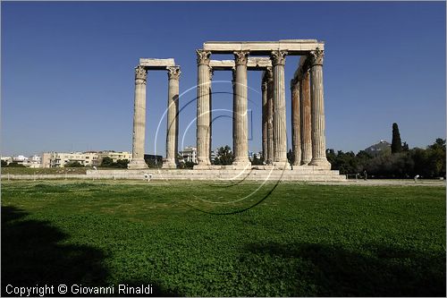
[[[233,60],[213,60],[214,54],[231,54]],[[299,55],[299,65],[291,79],[291,149],[294,163],[287,160],[287,123],[284,65],[288,55]],[[325,44],[316,39],[280,41],[211,41],[197,50],[197,154],[198,165],[193,171],[176,168],[179,133],[180,66],[174,59],[141,58],[135,68],[135,102],[133,118],[132,159],[129,169],[144,169],[146,129],[146,80],[148,71],[168,73],[166,158],[162,169],[165,176],[186,179],[197,177],[232,179],[234,173],[256,170],[282,173],[286,180],[340,180],[338,171],[331,171],[325,155],[325,98],[323,63]],[[211,82],[213,72],[232,72],[232,151],[229,166],[211,164],[212,108]],[[247,72],[263,72],[262,81],[262,154],[265,166],[251,166],[248,139]],[[163,171],[163,170],[160,170]],[[189,172],[189,174],[185,174]],[[251,174],[254,175],[254,174]],[[255,178],[253,178],[255,179]]]

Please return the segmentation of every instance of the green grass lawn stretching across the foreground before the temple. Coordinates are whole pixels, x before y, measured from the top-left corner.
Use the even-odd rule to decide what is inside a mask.
[[[8,284],[63,283],[152,284],[157,295],[445,296],[445,194],[3,182],[2,294]]]

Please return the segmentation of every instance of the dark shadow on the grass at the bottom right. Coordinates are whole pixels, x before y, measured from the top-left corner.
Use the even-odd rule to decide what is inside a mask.
[[[299,260],[295,264],[306,265],[304,270],[283,266],[284,270],[293,271],[285,274],[293,284],[291,292],[294,293],[289,295],[302,295],[302,280],[307,280],[313,283],[314,294],[318,296],[445,297],[445,254],[442,251],[427,255],[368,245],[359,253],[316,243],[254,243],[249,245],[248,251],[274,260],[283,259],[283,264]],[[256,263],[251,265],[253,268],[258,266]]]

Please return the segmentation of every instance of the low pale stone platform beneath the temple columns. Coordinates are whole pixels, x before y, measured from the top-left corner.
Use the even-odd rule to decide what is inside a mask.
[[[145,176],[146,175],[146,176]],[[293,169],[279,170],[272,166],[249,166],[240,170],[231,166],[210,166],[208,169],[156,169],[142,170],[88,170],[92,179],[133,179],[147,180],[210,180],[210,181],[346,181],[339,171],[318,166],[294,166]]]

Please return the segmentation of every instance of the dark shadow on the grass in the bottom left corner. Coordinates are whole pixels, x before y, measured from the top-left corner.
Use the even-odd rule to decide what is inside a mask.
[[[1,208],[2,217],[2,296],[6,285],[108,286],[105,253],[88,245],[62,244],[69,235],[49,221],[26,219],[29,214],[15,207]],[[126,285],[152,284],[154,295],[176,295],[148,281],[120,281]],[[35,294],[36,295],[36,294]],[[55,296],[60,296],[55,290]],[[69,291],[68,296],[73,294]],[[92,294],[85,294],[91,296]],[[115,285],[114,295],[117,296]],[[145,296],[142,294],[140,296]],[[129,296],[129,294],[123,294]]]

